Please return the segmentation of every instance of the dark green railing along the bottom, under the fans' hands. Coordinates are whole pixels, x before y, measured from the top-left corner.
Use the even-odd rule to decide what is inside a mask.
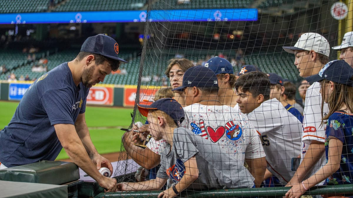
[[[177,197],[194,197],[194,198],[220,198],[220,197],[276,197],[284,196],[291,187],[271,187],[271,188],[235,188],[210,190],[203,192],[183,191]],[[131,192],[108,192],[100,193],[95,198],[115,198],[115,197],[134,197],[134,198],[149,198],[157,197],[161,191],[131,191]],[[353,184],[345,185],[329,185],[329,186],[314,186],[310,188],[304,195],[317,194],[352,194]]]

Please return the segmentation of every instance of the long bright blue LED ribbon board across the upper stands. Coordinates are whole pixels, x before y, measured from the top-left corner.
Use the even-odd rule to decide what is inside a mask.
[[[39,12],[0,14],[0,24],[122,23],[150,21],[256,21],[257,9]]]

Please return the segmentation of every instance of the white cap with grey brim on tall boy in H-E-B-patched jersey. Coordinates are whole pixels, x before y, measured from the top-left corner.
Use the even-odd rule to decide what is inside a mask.
[[[318,33],[307,32],[301,35],[294,47],[282,47],[286,52],[294,54],[294,50],[314,50],[325,56],[330,55],[330,44],[327,39]]]

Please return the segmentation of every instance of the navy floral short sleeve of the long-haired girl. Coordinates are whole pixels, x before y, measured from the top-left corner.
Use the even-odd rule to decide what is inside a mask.
[[[345,132],[343,130],[344,123],[340,119],[341,113],[333,113],[328,120],[328,126],[326,129],[326,136],[329,139],[329,136],[336,137],[341,142],[345,143]]]

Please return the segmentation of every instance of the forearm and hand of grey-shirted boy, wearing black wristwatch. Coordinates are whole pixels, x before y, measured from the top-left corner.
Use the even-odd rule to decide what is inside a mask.
[[[193,156],[189,160],[187,160],[185,163],[185,173],[183,178],[179,181],[177,185],[175,185],[175,189],[180,193],[181,191],[184,191],[187,187],[189,187],[192,182],[194,182],[199,175],[198,168],[197,168],[197,162],[196,162],[196,157]],[[160,197],[175,197],[177,194],[175,194],[174,190],[172,187],[168,188],[167,190],[161,192],[158,195],[158,198]]]

